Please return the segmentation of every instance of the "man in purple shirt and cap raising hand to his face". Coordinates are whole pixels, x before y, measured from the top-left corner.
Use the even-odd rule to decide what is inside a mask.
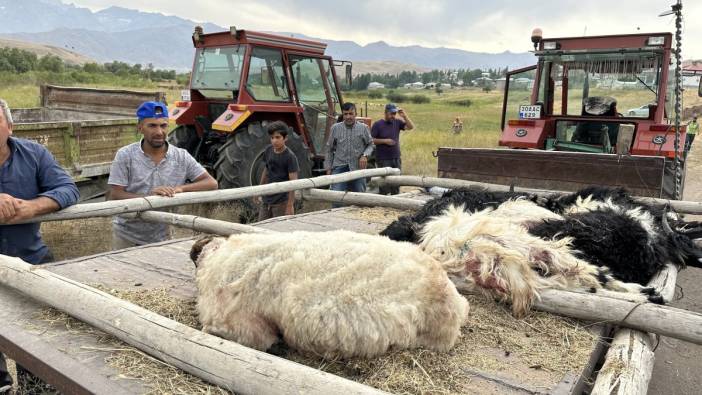
[[[397,119],[398,115],[401,119]],[[377,147],[375,159],[378,167],[402,169],[402,160],[400,159],[400,131],[412,129],[414,129],[414,124],[403,109],[398,108],[393,103],[388,103],[385,106],[384,119],[376,121],[371,128],[373,143]],[[400,193],[400,187],[380,187],[381,195],[397,195],[398,193]]]

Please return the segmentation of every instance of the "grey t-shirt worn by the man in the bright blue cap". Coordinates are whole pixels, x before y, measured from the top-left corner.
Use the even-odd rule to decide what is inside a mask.
[[[148,195],[159,186],[176,187],[193,181],[205,173],[205,169],[188,151],[168,145],[166,157],[156,165],[144,153],[141,142],[120,148],[110,168],[107,183],[125,187],[130,193]],[[168,225],[144,222],[115,216],[112,231],[120,237],[137,244],[149,244],[168,238]]]

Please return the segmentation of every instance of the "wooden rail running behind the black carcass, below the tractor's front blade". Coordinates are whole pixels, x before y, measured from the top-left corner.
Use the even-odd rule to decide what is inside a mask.
[[[419,176],[390,176],[374,180],[380,185],[400,185],[416,187],[442,187],[442,188],[482,188],[487,191],[509,191],[509,186],[499,184],[487,184],[484,182],[456,180],[453,178],[419,177]],[[531,189],[515,187],[515,192],[527,192],[535,195],[547,196],[564,194],[564,191],[547,191],[543,189]],[[689,202],[683,200],[657,199],[651,197],[636,197],[637,201],[649,204],[669,205],[670,208],[681,214],[702,214],[702,202]]]

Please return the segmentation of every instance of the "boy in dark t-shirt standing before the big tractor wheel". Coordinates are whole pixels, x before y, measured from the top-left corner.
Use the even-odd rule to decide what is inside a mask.
[[[283,121],[272,122],[268,125],[268,135],[271,145],[263,153],[266,163],[261,175],[261,185],[269,182],[297,180],[300,166],[297,157],[285,143],[288,141],[288,125]],[[258,220],[295,214],[295,191],[267,195],[262,198]]]

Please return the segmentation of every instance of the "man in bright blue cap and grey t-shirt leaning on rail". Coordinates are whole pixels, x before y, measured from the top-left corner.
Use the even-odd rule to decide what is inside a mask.
[[[217,189],[217,181],[188,153],[166,142],[168,107],[147,101],[137,109],[138,130],[144,137],[120,148],[110,169],[109,199]],[[112,249],[168,239],[168,225],[116,216],[112,221]]]

